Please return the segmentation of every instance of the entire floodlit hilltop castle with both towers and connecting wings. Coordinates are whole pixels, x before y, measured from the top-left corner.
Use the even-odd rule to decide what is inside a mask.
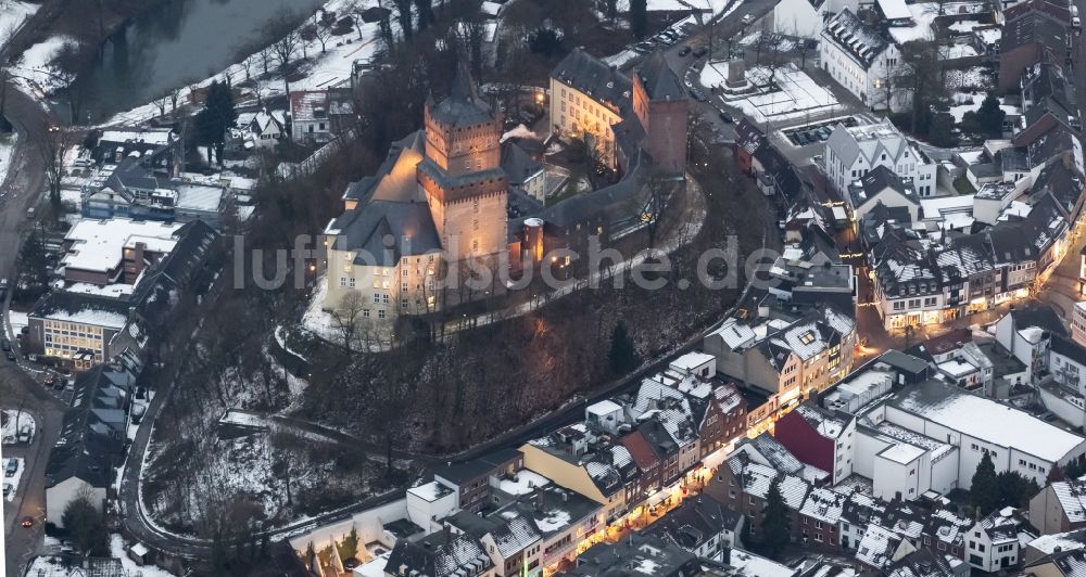
[[[462,65],[449,97],[427,101],[424,129],[394,143],[377,175],[344,192],[343,213],[325,230],[334,240],[324,307],[356,295],[362,317],[375,322],[434,312],[471,297],[443,287],[444,271],[463,279],[470,261],[496,279],[501,267],[538,264],[574,238],[624,234],[643,226],[647,178],[682,181],[687,103],[662,55],[649,56],[631,80],[574,50],[552,73],[551,113],[556,137],[598,137],[618,182],[553,205],[528,194],[522,179],[510,183],[509,158],[527,154],[503,145],[501,112]]]

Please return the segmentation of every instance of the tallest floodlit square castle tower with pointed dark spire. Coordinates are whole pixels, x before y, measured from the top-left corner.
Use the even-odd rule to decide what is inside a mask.
[[[449,98],[426,103],[426,157],[417,178],[451,261],[506,251],[508,181],[501,168],[502,118],[460,64]]]

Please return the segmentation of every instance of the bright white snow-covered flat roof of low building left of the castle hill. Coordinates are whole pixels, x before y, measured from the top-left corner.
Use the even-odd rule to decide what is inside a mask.
[[[61,264],[73,269],[108,272],[121,264],[124,248],[135,248],[137,243],[147,245],[147,251],[168,253],[177,244],[174,233],[181,226],[127,218],[80,220],[64,235],[64,241],[72,246]]]

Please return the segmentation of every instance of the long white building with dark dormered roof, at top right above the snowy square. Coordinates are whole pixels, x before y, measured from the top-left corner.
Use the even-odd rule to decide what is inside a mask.
[[[898,47],[846,8],[822,29],[822,67],[842,87],[872,108],[905,110],[909,93],[894,90],[892,77],[901,60]]]

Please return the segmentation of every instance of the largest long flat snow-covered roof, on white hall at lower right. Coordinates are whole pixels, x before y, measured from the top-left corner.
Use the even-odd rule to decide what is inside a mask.
[[[904,389],[891,405],[970,437],[1057,462],[1083,437],[992,399],[929,382]]]

